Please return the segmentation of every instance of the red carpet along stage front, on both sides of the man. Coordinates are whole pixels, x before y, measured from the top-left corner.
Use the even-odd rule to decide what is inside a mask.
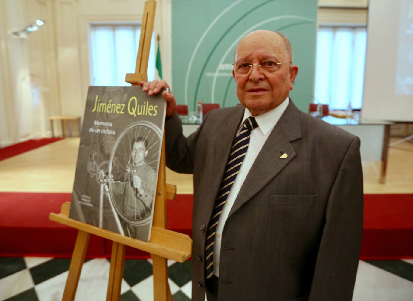
[[[0,256],[71,257],[77,230],[49,221],[69,193],[0,193]],[[413,258],[413,194],[364,195],[361,259]],[[167,203],[167,228],[191,234],[192,195]],[[110,242],[91,235],[87,256],[110,256]],[[148,254],[126,250],[127,258]]]

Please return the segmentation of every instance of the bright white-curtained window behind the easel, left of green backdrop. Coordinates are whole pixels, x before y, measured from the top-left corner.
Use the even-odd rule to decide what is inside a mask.
[[[140,25],[92,25],[90,28],[90,83],[93,86],[126,86],[126,73],[135,73]],[[155,43],[148,62],[148,80],[155,78]]]

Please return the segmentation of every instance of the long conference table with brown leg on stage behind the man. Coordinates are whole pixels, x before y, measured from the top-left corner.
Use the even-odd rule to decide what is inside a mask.
[[[182,120],[183,134],[185,136],[189,136],[195,132],[201,123],[195,114],[190,113],[189,115],[179,117]],[[386,181],[390,125],[393,125],[394,122],[358,117],[337,118],[331,115],[322,117],[321,119],[360,138],[361,160],[381,161],[379,182],[384,184]]]

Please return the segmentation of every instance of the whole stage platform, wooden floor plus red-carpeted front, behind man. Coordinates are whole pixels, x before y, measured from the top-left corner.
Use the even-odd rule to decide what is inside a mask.
[[[79,138],[66,138],[0,161],[0,256],[70,257],[76,230],[49,221],[50,212],[70,201]],[[380,184],[380,162],[363,162],[364,226],[362,259],[413,257],[413,144],[389,150],[387,182]],[[192,175],[166,173],[178,188],[167,202],[167,228],[191,235]],[[109,256],[110,245],[94,237],[88,257]],[[128,258],[148,254],[127,249]]]

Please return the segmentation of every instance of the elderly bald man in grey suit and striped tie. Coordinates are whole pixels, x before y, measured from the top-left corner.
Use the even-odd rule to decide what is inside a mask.
[[[299,111],[290,42],[254,31],[235,51],[242,106],[182,134],[167,101],[166,162],[194,174],[192,300],[351,300],[361,246],[360,140]],[[140,82],[149,95],[164,81]]]

